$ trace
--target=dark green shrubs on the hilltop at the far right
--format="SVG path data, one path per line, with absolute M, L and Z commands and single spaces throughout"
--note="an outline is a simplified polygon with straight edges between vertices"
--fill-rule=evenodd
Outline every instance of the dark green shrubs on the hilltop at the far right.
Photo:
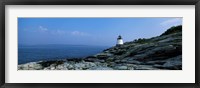
M 182 31 L 182 25 L 173 26 L 169 28 L 167 31 L 165 31 L 163 34 L 161 34 L 161 36 L 181 32 L 181 31 Z

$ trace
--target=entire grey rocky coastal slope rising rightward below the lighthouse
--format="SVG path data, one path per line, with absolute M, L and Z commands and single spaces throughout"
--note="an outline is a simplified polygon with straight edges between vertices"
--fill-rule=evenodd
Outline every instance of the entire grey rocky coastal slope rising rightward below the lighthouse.
M 39 61 L 18 70 L 182 70 L 182 26 L 160 36 L 140 38 L 85 58 Z

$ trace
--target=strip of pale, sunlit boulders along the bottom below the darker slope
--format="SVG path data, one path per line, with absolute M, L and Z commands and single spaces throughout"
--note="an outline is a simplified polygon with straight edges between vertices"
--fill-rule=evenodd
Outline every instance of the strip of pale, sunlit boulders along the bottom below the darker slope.
M 52 63 L 54 62 L 54 63 Z M 60 64 L 58 64 L 58 62 Z M 43 64 L 49 66 L 43 66 Z M 111 66 L 111 63 L 101 62 L 86 62 L 80 60 L 74 61 L 40 61 L 30 62 L 27 64 L 19 65 L 18 70 L 159 70 L 151 65 L 137 65 L 137 64 L 118 64 Z

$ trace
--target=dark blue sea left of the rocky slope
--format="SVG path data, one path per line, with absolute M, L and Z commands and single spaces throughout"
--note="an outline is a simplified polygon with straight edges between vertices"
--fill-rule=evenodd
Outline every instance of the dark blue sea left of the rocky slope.
M 89 45 L 19 45 L 18 64 L 35 61 L 82 58 L 102 52 L 108 46 Z

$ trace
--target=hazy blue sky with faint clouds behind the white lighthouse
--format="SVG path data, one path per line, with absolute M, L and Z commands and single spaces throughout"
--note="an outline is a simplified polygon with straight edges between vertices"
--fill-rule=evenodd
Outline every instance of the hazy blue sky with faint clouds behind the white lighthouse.
M 114 46 L 124 42 L 159 36 L 182 18 L 18 18 L 18 44 Z

